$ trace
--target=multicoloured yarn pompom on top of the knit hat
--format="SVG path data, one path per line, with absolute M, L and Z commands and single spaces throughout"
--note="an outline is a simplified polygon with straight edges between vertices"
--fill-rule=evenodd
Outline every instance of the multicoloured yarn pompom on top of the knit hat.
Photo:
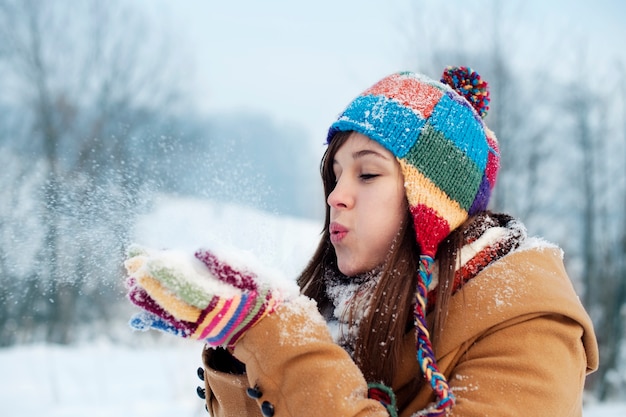
M 483 119 L 489 110 L 487 82 L 469 67 L 449 66 L 443 71 L 441 82 L 465 97 Z

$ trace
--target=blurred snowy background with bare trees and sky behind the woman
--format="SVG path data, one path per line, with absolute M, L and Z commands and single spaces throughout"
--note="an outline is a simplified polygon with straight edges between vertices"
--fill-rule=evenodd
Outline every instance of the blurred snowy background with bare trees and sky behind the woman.
M 295 277 L 326 128 L 397 70 L 492 87 L 494 209 L 559 243 L 601 345 L 585 416 L 626 415 L 619 0 L 0 0 L 2 415 L 200 416 L 201 346 L 133 333 L 131 242 L 230 245 Z

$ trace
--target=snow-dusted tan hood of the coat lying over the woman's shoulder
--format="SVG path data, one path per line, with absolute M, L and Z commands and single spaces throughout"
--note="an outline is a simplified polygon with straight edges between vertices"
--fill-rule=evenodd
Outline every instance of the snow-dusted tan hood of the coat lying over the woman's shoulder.
M 446 349 L 454 349 L 496 326 L 533 317 L 558 315 L 580 324 L 595 338 L 563 263 L 563 251 L 538 238 L 528 238 L 489 264 L 451 299 L 446 319 Z

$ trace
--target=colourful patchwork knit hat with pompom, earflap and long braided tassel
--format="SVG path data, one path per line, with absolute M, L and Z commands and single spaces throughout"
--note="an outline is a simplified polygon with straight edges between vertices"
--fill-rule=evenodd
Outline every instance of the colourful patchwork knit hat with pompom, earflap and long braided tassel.
M 355 131 L 380 143 L 400 162 L 419 244 L 415 303 L 417 360 L 437 395 L 428 415 L 454 404 L 439 372 L 426 324 L 428 287 L 437 247 L 469 216 L 487 208 L 500 155 L 483 123 L 487 83 L 467 67 L 448 67 L 441 82 L 401 72 L 383 78 L 354 99 L 328 131 Z

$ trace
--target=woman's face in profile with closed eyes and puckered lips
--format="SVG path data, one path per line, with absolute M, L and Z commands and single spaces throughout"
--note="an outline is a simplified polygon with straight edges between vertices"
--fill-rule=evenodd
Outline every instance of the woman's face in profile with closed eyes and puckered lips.
M 352 133 L 333 160 L 330 240 L 339 270 L 354 276 L 382 265 L 406 218 L 400 164 L 378 143 Z

